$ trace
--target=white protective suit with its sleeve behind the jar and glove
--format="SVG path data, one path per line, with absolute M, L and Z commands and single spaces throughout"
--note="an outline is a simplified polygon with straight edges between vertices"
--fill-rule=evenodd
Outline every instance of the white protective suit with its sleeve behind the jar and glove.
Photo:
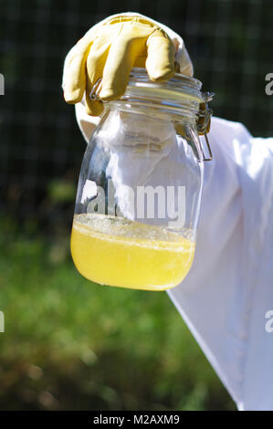
M 76 113 L 89 141 L 100 118 Z M 209 141 L 194 264 L 168 295 L 238 409 L 273 410 L 273 139 L 213 118 Z

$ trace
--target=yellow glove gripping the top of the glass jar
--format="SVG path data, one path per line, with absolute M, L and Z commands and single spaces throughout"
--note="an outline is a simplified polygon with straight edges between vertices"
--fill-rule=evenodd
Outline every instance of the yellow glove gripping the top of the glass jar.
M 140 16 L 118 16 L 89 29 L 68 52 L 63 75 L 64 97 L 78 103 L 86 92 L 86 110 L 98 116 L 102 102 L 89 99 L 99 78 L 100 99 L 123 95 L 131 68 L 146 67 L 152 81 L 172 78 L 175 48 L 162 28 Z

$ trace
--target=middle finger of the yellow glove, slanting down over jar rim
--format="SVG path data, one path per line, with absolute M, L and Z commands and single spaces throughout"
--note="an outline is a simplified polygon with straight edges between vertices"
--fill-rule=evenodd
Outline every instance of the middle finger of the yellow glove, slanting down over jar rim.
M 102 75 L 100 99 L 119 99 L 125 92 L 133 64 L 145 55 L 145 38 L 118 37 L 110 47 Z

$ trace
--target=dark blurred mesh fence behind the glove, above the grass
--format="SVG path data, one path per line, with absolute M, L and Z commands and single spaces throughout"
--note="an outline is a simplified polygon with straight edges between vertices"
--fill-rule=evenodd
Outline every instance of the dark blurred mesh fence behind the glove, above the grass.
M 215 115 L 244 122 L 255 136 L 273 136 L 273 96 L 265 93 L 273 72 L 267 0 L 0 0 L 2 214 L 50 218 L 58 185 L 59 213 L 66 204 L 71 212 L 85 143 L 62 99 L 63 60 L 90 26 L 127 10 L 184 37 L 195 76 L 215 91 Z

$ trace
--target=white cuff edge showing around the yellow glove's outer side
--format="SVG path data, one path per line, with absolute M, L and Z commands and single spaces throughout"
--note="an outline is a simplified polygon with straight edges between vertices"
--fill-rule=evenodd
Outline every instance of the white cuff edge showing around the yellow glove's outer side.
M 191 62 L 191 59 L 187 53 L 187 50 L 184 47 L 184 40 L 178 34 L 174 33 L 174 31 L 168 26 L 164 26 L 153 19 L 143 16 L 141 14 L 135 12 L 125 12 L 121 14 L 116 14 L 112 16 L 108 16 L 106 19 L 101 21 L 102 23 L 108 21 L 109 19 L 115 16 L 142 16 L 145 19 L 148 19 L 153 24 L 160 26 L 167 33 L 167 35 L 173 40 L 173 44 L 175 46 L 175 59 L 179 63 L 181 72 L 186 73 L 188 75 L 193 75 L 194 68 Z M 99 23 L 100 24 L 100 23 Z M 79 130 L 82 132 L 84 139 L 88 142 L 92 132 L 94 131 L 96 125 L 100 122 L 100 116 L 94 117 L 89 116 L 84 107 L 84 99 L 82 99 L 79 103 L 76 104 L 76 118 L 79 124 Z

